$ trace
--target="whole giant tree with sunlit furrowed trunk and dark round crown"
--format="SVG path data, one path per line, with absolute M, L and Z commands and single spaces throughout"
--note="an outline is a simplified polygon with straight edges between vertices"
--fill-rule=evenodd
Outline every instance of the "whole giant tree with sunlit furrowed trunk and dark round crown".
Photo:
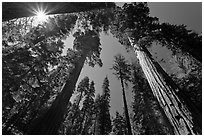
M 186 100 L 146 48 L 151 45 L 152 36 L 157 33 L 155 26 L 158 25 L 157 18 L 149 16 L 147 4 L 125 4 L 122 9 L 116 9 L 115 15 L 117 20 L 112 27 L 112 33 L 122 44 L 130 44 L 134 49 L 152 92 L 174 127 L 174 133 L 200 134 L 201 129 L 197 124 L 199 118 L 196 113 L 189 110 L 193 108 L 193 104 Z

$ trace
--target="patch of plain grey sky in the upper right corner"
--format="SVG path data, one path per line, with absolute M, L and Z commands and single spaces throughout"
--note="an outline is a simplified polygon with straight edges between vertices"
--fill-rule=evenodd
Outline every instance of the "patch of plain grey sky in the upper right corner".
M 185 24 L 188 29 L 201 33 L 201 2 L 149 2 L 148 5 L 150 15 L 158 17 L 161 22 Z

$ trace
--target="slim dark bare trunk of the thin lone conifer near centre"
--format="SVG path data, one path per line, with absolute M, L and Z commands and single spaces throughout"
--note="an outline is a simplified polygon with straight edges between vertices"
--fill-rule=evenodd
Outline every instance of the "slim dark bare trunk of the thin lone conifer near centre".
M 129 113 L 128 113 L 127 101 L 126 101 L 126 96 L 125 96 L 125 88 L 124 88 L 123 78 L 121 77 L 121 74 L 120 74 L 120 82 L 121 82 L 122 91 L 123 91 L 123 103 L 124 103 L 124 108 L 125 108 L 125 118 L 126 118 L 126 124 L 127 124 L 127 129 L 128 129 L 128 135 L 132 135 L 132 129 L 131 129 L 130 118 L 129 118 Z

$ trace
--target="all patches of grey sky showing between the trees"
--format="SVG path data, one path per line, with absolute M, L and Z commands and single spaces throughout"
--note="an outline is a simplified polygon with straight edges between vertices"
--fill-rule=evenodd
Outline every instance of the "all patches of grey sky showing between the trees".
M 122 5 L 122 3 L 117 3 Z M 197 33 L 202 32 L 202 3 L 180 3 L 180 2 L 151 2 L 148 3 L 150 7 L 150 15 L 156 16 L 161 22 L 169 22 L 171 24 L 185 24 L 188 29 L 194 30 Z M 71 47 L 73 42 L 73 37 L 66 40 L 65 45 Z M 127 53 L 125 48 L 118 42 L 116 38 L 113 38 L 111 34 L 105 35 L 101 34 L 101 59 L 103 62 L 103 67 L 95 66 L 94 68 L 84 65 L 78 83 L 85 76 L 88 76 L 90 80 L 95 82 L 96 94 L 102 93 L 102 84 L 104 78 L 107 76 L 110 81 L 110 92 L 111 92 L 111 115 L 115 115 L 115 111 L 122 112 L 123 110 L 123 100 L 122 100 L 122 89 L 120 81 L 113 75 L 113 70 L 110 70 L 113 64 L 113 57 L 121 53 L 125 58 L 131 61 L 135 58 L 133 52 Z M 169 60 L 171 57 L 171 52 L 166 48 L 161 46 L 154 46 L 150 49 L 151 53 L 157 60 L 164 59 L 160 62 L 164 67 L 164 70 L 171 71 L 172 61 Z M 128 100 L 128 105 L 131 105 L 131 86 L 126 89 L 126 96 Z

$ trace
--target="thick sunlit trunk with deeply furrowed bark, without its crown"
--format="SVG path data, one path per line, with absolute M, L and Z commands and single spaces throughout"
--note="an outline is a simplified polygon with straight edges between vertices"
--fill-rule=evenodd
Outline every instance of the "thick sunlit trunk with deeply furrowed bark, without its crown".
M 169 76 L 166 73 L 163 74 L 165 71 L 158 67 L 159 64 L 155 64 L 145 47 L 138 47 L 131 39 L 129 40 L 135 48 L 135 53 L 154 96 L 156 96 L 171 125 L 174 127 L 174 133 L 179 135 L 201 134 L 201 130 L 193 120 L 193 114 L 186 107 L 181 96 L 176 95 L 179 89 L 172 85 L 173 81 L 167 81 L 167 79 L 170 79 Z

